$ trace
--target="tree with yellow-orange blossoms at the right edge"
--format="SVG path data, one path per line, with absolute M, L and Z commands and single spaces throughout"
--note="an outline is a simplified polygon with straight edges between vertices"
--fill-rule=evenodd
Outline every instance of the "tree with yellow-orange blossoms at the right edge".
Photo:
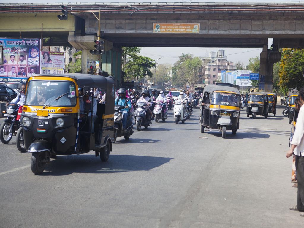
M 300 90 L 304 85 L 304 50 L 283 48 L 279 70 L 281 91 Z

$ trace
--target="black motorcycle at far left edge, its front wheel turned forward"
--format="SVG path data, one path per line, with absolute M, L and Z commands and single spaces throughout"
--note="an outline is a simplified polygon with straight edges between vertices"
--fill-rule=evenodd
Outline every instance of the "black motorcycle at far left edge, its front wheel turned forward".
M 17 104 L 9 104 L 6 111 L 3 111 L 4 116 L 7 116 L 0 128 L 0 140 L 7 144 L 11 141 L 12 136 L 17 134 L 20 126 L 20 117 L 22 113 L 22 106 L 18 108 Z M 21 131 L 22 132 L 22 131 Z

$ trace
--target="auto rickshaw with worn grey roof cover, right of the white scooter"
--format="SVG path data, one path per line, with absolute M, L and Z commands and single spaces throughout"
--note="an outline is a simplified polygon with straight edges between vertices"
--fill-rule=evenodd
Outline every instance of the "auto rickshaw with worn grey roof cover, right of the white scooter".
M 200 113 L 201 132 L 206 127 L 222 131 L 222 138 L 226 137 L 226 130 L 237 133 L 240 127 L 240 91 L 237 88 L 206 85 L 202 96 Z

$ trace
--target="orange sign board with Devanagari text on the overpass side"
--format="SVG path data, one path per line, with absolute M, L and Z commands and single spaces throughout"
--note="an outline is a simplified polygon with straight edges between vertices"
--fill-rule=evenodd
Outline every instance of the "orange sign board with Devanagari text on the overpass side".
M 153 33 L 199 33 L 199 23 L 153 23 Z

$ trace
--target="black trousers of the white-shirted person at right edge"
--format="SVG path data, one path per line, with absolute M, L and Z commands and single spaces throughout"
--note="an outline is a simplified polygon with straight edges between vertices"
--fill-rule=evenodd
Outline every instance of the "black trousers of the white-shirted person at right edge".
M 298 180 L 298 199 L 297 208 L 299 211 L 304 212 L 304 157 L 295 156 L 295 167 Z

